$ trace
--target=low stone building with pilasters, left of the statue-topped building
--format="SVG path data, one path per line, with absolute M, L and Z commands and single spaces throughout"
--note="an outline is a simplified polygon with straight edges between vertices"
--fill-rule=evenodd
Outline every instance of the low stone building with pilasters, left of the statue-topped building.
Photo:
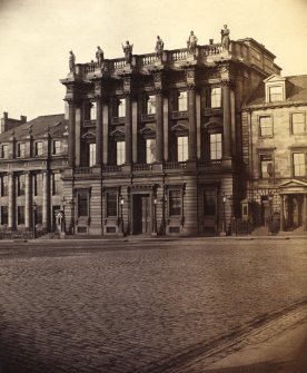
M 67 168 L 68 122 L 65 115 L 27 122 L 4 112 L 0 134 L 1 232 L 55 230 L 62 208 L 61 173 Z

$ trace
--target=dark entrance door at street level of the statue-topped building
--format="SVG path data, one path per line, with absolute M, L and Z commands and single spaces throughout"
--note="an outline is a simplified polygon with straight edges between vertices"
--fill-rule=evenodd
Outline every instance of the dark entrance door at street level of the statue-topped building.
M 133 234 L 151 233 L 150 195 L 140 194 L 133 196 Z

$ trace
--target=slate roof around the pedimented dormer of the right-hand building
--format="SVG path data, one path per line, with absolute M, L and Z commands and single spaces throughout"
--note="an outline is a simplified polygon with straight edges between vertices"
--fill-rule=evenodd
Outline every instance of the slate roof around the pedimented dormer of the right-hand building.
M 286 77 L 286 102 L 307 101 L 307 75 Z M 247 105 L 261 105 L 266 102 L 265 84 L 261 81 L 254 91 Z

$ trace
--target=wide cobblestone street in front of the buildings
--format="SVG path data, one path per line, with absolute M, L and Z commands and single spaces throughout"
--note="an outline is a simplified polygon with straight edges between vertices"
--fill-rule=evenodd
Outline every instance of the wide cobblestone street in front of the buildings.
M 306 243 L 1 244 L 0 372 L 184 372 L 306 306 Z

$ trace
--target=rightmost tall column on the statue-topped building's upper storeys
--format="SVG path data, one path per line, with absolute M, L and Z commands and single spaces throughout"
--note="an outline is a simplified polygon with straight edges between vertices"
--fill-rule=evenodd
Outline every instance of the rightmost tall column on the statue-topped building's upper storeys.
M 222 157 L 231 158 L 231 112 L 230 112 L 230 87 L 229 81 L 224 81 L 222 85 Z

